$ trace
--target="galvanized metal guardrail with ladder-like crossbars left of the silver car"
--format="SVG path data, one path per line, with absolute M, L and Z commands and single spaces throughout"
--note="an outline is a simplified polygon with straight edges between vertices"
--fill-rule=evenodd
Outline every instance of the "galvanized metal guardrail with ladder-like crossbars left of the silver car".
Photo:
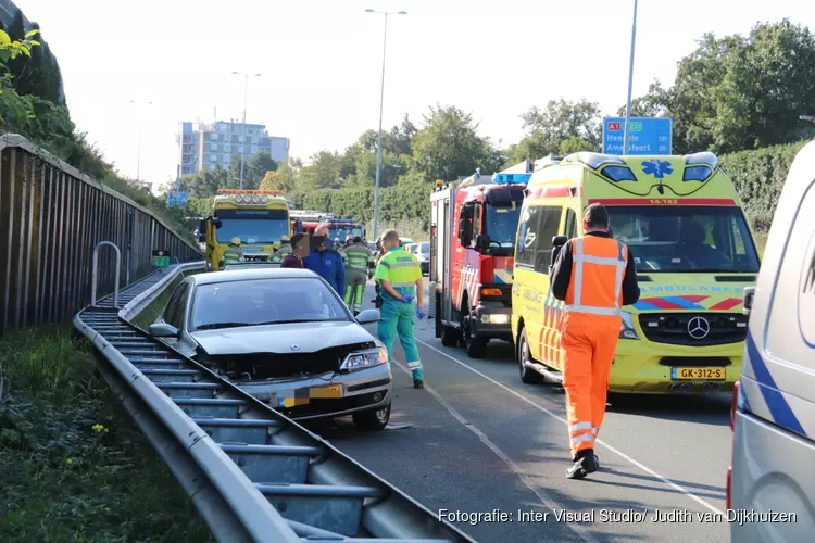
M 220 542 L 474 542 L 327 441 L 128 323 L 175 265 L 87 307 L 74 326 Z

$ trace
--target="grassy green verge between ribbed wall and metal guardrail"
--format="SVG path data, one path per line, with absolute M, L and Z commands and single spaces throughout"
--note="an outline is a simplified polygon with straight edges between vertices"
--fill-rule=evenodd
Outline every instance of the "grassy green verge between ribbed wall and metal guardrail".
M 2 338 L 0 541 L 214 541 L 95 368 L 71 326 Z

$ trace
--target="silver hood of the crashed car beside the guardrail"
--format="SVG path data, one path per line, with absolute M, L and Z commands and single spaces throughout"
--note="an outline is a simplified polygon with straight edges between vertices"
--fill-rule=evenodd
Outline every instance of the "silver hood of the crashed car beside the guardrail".
M 374 341 L 356 323 L 292 323 L 248 326 L 192 332 L 192 338 L 210 355 L 251 353 L 313 353 L 331 346 Z M 292 349 L 297 345 L 299 349 Z

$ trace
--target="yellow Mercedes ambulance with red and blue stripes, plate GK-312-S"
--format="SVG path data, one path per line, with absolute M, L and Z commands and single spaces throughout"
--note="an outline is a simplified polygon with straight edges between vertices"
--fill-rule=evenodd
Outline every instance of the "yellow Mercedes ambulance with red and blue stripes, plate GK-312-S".
M 582 211 L 606 206 L 636 257 L 640 300 L 625 306 L 611 392 L 732 390 L 747 338 L 744 288 L 758 254 L 730 180 L 712 153 L 575 153 L 532 174 L 521 211 L 512 332 L 521 378 L 561 380 L 563 302 L 550 290 L 553 248 L 581 236 Z

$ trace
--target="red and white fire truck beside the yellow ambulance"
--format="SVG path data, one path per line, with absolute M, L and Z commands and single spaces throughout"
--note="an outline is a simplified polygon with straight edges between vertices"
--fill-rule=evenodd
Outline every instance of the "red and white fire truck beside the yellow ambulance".
M 444 346 L 482 358 L 491 339 L 512 341 L 512 268 L 528 161 L 430 194 L 429 316 Z

